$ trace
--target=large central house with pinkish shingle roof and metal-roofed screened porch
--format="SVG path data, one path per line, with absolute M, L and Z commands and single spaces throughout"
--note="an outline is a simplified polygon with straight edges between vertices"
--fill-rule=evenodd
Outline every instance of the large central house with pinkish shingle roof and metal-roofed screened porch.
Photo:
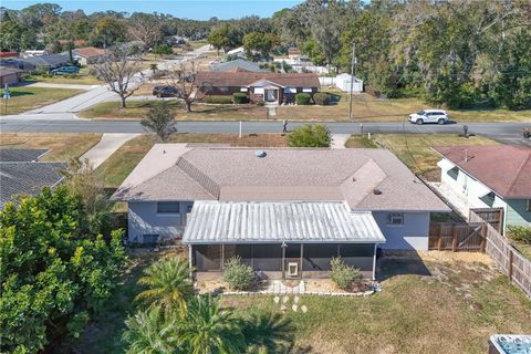
M 270 278 L 327 277 L 337 256 L 374 278 L 377 248 L 427 250 L 450 211 L 385 149 L 157 144 L 113 199 L 129 242 L 181 238 L 198 272 L 240 256 Z

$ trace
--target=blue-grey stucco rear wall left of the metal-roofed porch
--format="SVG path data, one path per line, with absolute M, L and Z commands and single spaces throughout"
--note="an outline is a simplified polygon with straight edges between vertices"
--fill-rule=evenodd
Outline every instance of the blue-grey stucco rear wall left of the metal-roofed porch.
M 159 240 L 181 236 L 186 214 L 192 201 L 180 201 L 179 214 L 158 214 L 156 201 L 128 202 L 127 226 L 129 242 L 144 242 L 144 235 L 158 235 Z

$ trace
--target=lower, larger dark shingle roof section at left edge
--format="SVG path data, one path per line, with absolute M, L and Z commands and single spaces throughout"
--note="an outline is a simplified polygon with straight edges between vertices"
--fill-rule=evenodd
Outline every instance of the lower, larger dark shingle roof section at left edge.
M 53 187 L 63 176 L 64 163 L 1 163 L 0 208 L 17 195 L 38 195 L 44 187 Z

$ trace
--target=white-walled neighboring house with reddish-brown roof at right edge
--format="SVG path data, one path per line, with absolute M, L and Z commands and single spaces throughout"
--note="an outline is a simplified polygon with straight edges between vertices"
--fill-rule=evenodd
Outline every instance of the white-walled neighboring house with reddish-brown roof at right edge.
M 503 228 L 531 226 L 531 148 L 439 146 L 441 183 L 471 208 L 503 208 Z

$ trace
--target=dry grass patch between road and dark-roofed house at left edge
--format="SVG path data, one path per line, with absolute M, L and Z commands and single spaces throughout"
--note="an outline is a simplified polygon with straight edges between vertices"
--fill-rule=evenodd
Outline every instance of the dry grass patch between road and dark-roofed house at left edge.
M 9 148 L 48 148 L 43 160 L 67 160 L 80 157 L 100 142 L 93 133 L 2 133 L 0 146 Z

